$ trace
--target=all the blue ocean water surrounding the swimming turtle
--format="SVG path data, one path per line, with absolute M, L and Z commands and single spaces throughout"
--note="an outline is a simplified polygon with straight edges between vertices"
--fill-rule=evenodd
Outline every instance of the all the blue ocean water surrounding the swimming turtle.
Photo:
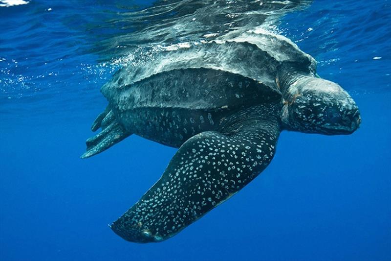
M 223 1 L 199 28 L 175 27 L 217 1 L 167 2 L 153 15 L 152 0 L 0 1 L 0 260 L 391 260 L 389 0 L 314 0 L 273 27 L 355 99 L 359 130 L 282 132 L 259 177 L 167 241 L 109 229 L 176 149 L 133 135 L 81 160 L 107 104 L 99 88 L 140 47 L 193 41 L 227 22 L 207 17 L 244 12 Z

